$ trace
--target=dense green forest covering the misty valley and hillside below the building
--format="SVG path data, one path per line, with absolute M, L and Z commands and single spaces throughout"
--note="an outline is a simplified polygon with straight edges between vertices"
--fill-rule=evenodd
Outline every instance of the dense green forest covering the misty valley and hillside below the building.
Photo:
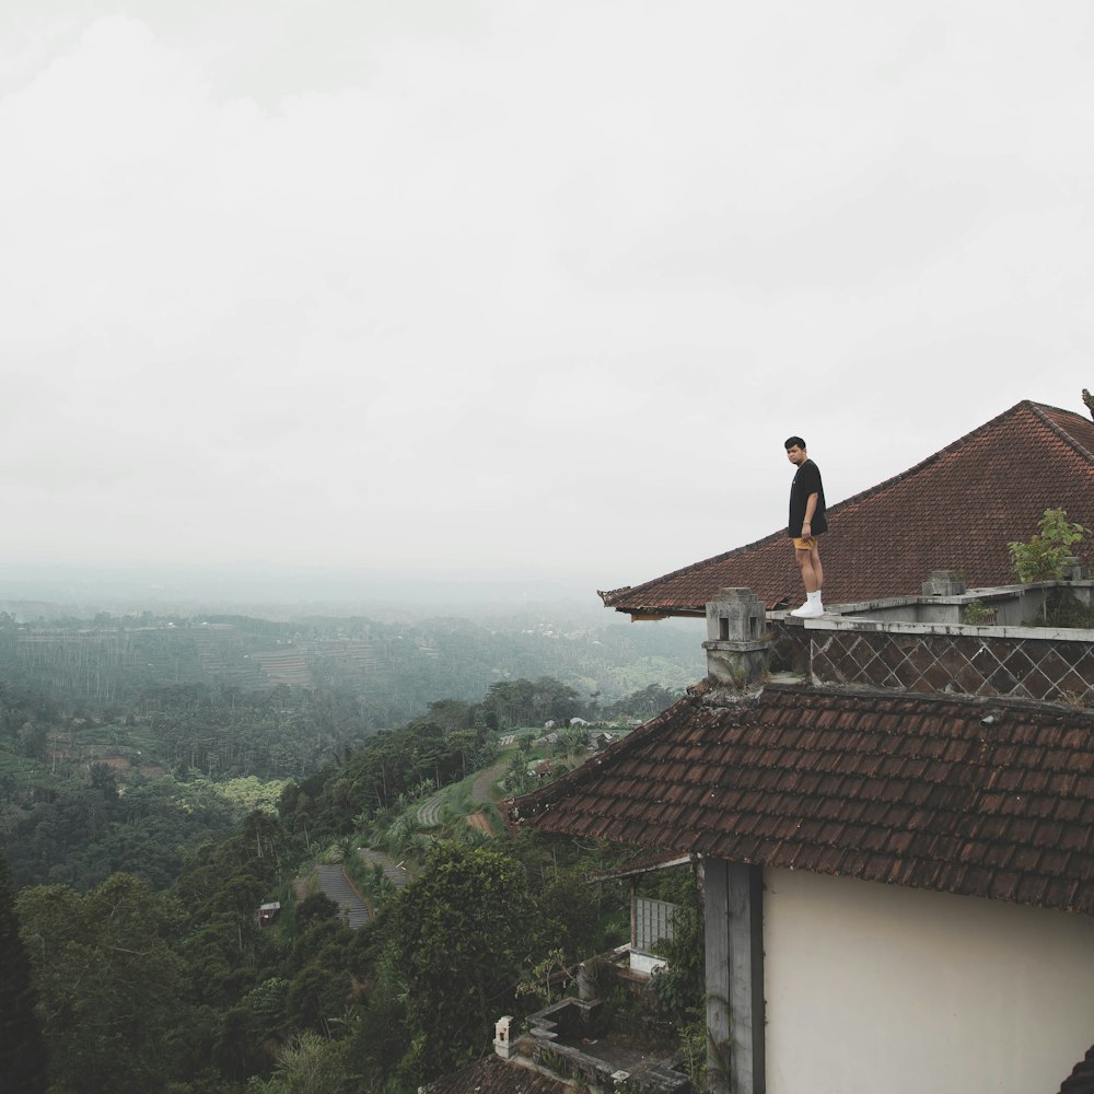
M 20 650 L 42 637 L 34 628 L 3 628 L 0 1089 L 403 1094 L 477 1058 L 498 1016 L 538 1009 L 552 973 L 565 979 L 626 936 L 624 886 L 584 878 L 635 852 L 514 834 L 491 803 L 542 779 L 537 763 L 556 777 L 597 747 L 597 731 L 625 733 L 679 694 L 672 672 L 649 678 L 663 654 L 631 647 L 628 665 L 621 648 L 645 628 L 606 628 L 624 631 L 607 642 L 524 636 L 528 657 L 558 651 L 575 685 L 511 675 L 520 640 L 499 668 L 477 628 L 457 652 L 455 624 L 422 647 L 420 631 L 365 639 L 345 620 L 340 638 L 316 621 L 291 633 L 138 621 L 54 621 L 33 652 Z M 209 627 L 224 660 L 207 645 L 199 672 L 185 659 Z M 433 691 L 414 717 L 380 724 L 380 709 L 428 691 L 375 690 L 370 706 L 373 667 L 344 671 L 323 645 L 364 641 L 386 651 L 396 688 L 412 664 L 439 661 L 488 666 L 485 686 Z M 258 647 L 278 642 L 298 651 L 305 680 L 209 668 L 229 653 L 261 664 Z M 138 664 L 153 648 L 161 660 Z M 610 661 L 640 686 L 602 690 Z M 473 784 L 489 785 L 489 801 L 473 800 Z M 377 864 L 396 860 L 404 886 Z M 322 863 L 363 895 L 363 927 L 317 885 Z M 651 884 L 690 909 L 686 871 Z M 258 916 L 264 903 L 280 906 L 275 921 Z M 695 931 L 678 939 L 657 998 L 686 1037 L 700 955 Z

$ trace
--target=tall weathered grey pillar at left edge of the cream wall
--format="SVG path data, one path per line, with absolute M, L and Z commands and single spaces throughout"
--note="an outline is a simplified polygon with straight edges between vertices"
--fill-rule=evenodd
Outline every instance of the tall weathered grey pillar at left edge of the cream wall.
M 703 859 L 702 891 L 707 1086 L 765 1094 L 763 869 Z

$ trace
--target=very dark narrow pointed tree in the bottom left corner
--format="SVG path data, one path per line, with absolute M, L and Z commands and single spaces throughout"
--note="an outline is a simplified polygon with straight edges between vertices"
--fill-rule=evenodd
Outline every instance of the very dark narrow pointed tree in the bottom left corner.
M 35 1002 L 8 860 L 0 851 L 0 1090 L 40 1094 L 46 1089 L 46 1051 Z

